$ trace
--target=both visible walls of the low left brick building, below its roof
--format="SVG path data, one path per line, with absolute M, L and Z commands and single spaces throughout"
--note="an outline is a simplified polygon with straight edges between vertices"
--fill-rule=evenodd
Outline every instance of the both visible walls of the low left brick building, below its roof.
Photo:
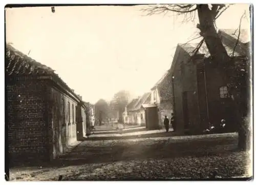
M 9 77 L 6 90 L 11 162 L 49 161 L 85 137 L 86 115 L 80 100 L 47 77 Z

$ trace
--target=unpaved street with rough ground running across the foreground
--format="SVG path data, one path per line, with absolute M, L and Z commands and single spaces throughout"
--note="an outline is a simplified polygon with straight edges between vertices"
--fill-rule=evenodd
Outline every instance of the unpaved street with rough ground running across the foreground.
M 122 139 L 113 133 L 108 140 L 92 137 L 51 166 L 11 169 L 10 178 L 57 180 L 63 175 L 62 180 L 129 180 L 209 178 L 213 171 L 218 177 L 246 173 L 247 154 L 234 151 L 237 134 L 162 137 L 162 133 L 154 138 Z

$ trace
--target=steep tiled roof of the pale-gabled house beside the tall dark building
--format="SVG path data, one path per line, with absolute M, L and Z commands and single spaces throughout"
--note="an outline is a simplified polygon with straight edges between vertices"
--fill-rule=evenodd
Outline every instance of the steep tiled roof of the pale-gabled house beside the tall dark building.
M 168 70 L 167 74 L 164 75 L 162 81 L 157 85 L 160 101 L 171 101 L 172 100 L 172 74 Z

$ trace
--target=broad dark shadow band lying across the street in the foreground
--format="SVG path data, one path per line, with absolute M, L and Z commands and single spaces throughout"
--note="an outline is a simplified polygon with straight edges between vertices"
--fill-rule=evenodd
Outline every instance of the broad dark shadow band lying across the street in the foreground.
M 224 141 L 225 140 L 225 141 Z M 201 157 L 210 155 L 228 155 L 237 148 L 237 141 L 231 139 L 217 139 L 215 141 L 192 141 L 183 143 L 169 143 L 161 141 L 154 145 L 141 146 L 138 144 L 100 147 L 78 146 L 73 152 L 59 159 L 58 165 L 82 165 L 90 163 L 111 163 L 118 161 L 173 158 L 173 157 Z M 86 149 L 85 149 L 86 148 Z

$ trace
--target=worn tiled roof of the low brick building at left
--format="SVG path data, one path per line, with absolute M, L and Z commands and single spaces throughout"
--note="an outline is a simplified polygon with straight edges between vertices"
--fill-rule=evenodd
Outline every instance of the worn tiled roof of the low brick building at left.
M 34 59 L 23 54 L 15 49 L 10 44 L 6 44 L 6 59 L 5 59 L 5 74 L 6 76 L 19 75 L 52 75 L 54 80 L 60 83 L 65 89 L 73 94 L 81 102 L 81 98 L 72 90 L 50 67 L 36 62 Z

